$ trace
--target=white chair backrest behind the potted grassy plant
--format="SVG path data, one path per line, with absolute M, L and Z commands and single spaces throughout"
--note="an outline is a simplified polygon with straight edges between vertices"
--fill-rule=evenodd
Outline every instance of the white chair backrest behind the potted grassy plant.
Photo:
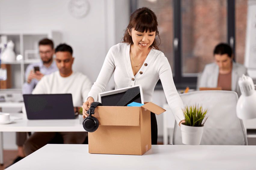
M 206 90 L 180 94 L 184 106 L 202 105 L 208 119 L 200 145 L 248 145 L 242 120 L 236 116 L 238 95 L 233 91 Z M 173 144 L 182 144 L 180 126 L 175 122 Z

